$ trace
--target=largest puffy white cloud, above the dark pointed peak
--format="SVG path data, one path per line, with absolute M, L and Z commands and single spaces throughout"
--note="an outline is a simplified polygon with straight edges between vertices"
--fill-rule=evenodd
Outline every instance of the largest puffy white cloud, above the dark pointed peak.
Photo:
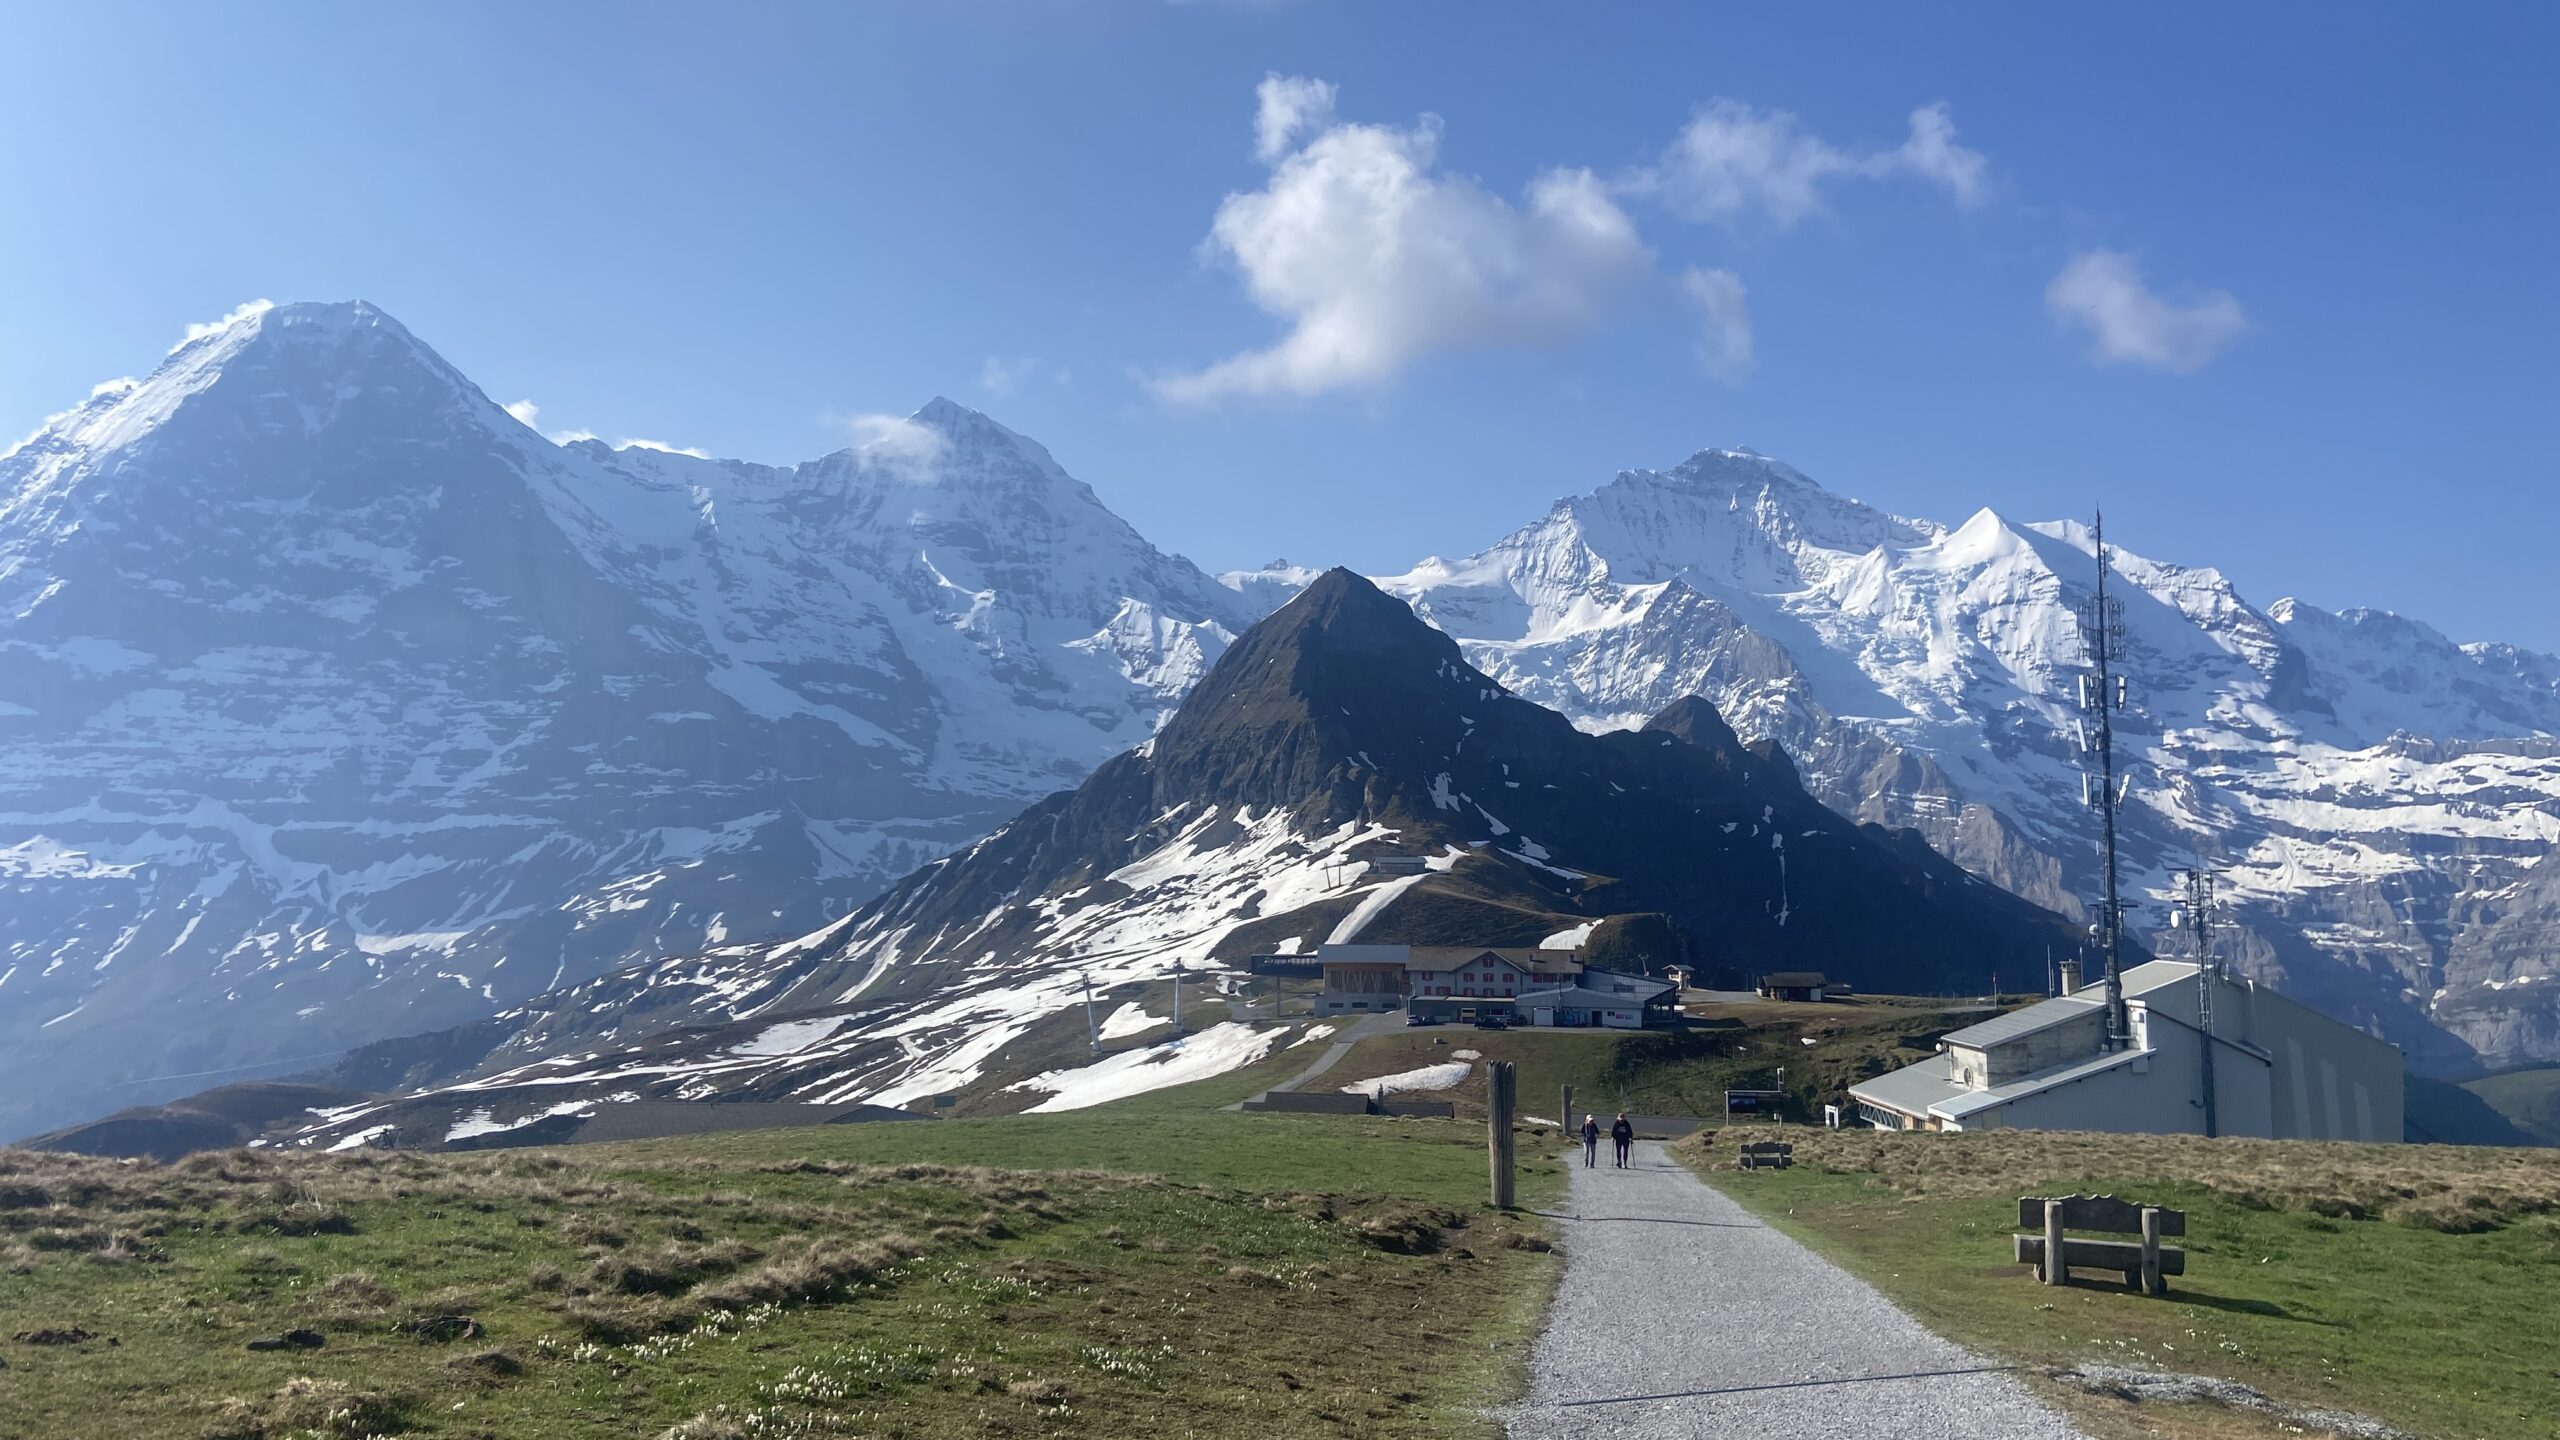
M 1651 269 L 1633 220 L 1587 169 L 1539 174 L 1513 208 L 1439 169 L 1436 115 L 1303 136 L 1329 113 L 1329 85 L 1265 79 L 1254 138 L 1270 182 L 1229 195 L 1208 233 L 1208 251 L 1288 333 L 1157 379 L 1157 395 L 1321 395 L 1382 382 L 1434 351 L 1556 343 Z

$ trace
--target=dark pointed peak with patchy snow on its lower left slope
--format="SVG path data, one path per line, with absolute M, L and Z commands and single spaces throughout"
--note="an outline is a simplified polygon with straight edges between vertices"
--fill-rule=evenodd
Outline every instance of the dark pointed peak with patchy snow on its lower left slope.
M 1656 969 L 1820 966 L 1894 992 L 2028 976 L 2074 933 L 1825 810 L 1700 700 L 1644 730 L 1580 733 L 1329 571 L 1247 630 L 1147 746 L 837 925 L 379 1045 L 330 1079 L 417 1094 L 297 1140 L 397 1130 L 433 1145 L 614 1099 L 911 1104 L 1004 1081 L 1042 1025 L 1080 1040 L 1085 981 L 1116 992 L 1175 966 L 1231 979 L 1252 953 L 1326 940 L 1605 948 L 1613 925 L 1695 943 L 1651 953 Z M 1231 1063 L 1262 1053 L 1229 1040 Z

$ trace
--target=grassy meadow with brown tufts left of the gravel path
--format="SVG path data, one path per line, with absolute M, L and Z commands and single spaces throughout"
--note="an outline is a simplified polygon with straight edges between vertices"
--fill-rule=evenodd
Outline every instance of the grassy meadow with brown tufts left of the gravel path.
M 1482 1207 L 1482 1127 L 1213 1109 L 1252 1081 L 486 1156 L 0 1150 L 0 1335 L 33 1338 L 0 1435 L 1482 1432 L 1554 1266 Z M 323 1345 L 248 1348 L 292 1330 Z

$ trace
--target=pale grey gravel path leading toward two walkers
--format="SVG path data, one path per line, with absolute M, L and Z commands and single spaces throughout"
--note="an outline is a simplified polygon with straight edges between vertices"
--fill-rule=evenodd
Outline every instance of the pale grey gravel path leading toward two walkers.
M 1574 1153 L 1564 1286 L 1513 1440 L 2084 1440 L 1981 1355 L 1702 1184 L 1651 1140 Z

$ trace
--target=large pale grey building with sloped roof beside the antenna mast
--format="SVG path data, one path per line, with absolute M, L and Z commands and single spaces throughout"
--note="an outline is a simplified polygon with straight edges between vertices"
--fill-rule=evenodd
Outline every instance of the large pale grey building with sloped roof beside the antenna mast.
M 2089 984 L 1966 1025 L 1928 1061 L 1853 1084 L 1848 1097 L 1876 1130 L 2401 1140 L 2399 1045 L 2230 976 L 2212 979 L 2207 1035 L 2202 999 L 2194 963 L 2150 961 L 2125 971 L 2122 1051 L 2107 1051 L 2104 992 Z

